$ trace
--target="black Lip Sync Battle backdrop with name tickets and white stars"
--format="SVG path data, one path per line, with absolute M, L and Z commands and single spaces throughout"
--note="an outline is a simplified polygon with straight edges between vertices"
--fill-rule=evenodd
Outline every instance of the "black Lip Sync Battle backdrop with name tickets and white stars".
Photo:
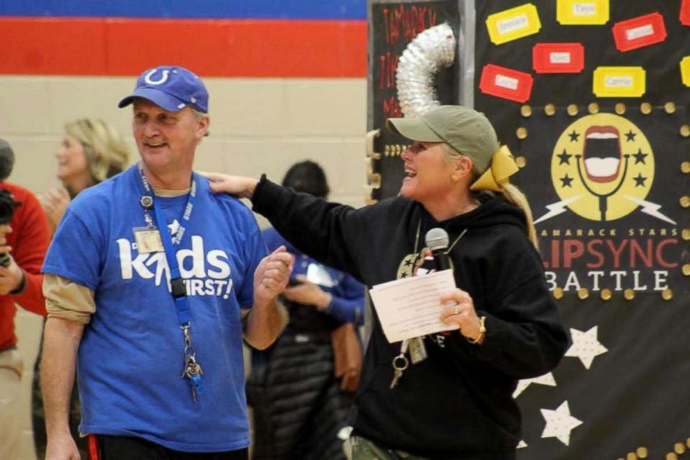
M 689 3 L 533 0 L 538 31 L 497 45 L 486 20 L 522 4 L 476 1 L 474 107 L 522 166 L 515 182 L 572 340 L 556 370 L 515 391 L 520 459 L 690 459 Z M 589 6 L 609 6 L 608 20 L 558 20 Z M 510 31 L 529 15 L 491 17 Z M 549 44 L 581 45 L 584 66 L 537 72 L 533 48 Z M 527 100 L 486 93 L 486 66 L 531 76 Z M 605 74 L 620 67 L 629 74 Z

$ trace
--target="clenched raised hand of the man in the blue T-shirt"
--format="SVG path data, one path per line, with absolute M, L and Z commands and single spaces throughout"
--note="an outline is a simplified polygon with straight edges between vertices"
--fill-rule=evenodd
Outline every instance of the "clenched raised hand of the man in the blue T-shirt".
M 294 257 L 280 246 L 264 257 L 254 272 L 254 305 L 267 306 L 287 287 Z

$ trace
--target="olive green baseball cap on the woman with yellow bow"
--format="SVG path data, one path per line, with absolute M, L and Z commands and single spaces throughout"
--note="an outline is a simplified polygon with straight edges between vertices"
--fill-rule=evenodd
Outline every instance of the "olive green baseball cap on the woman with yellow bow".
M 491 159 L 499 148 L 491 122 L 470 107 L 443 105 L 419 118 L 389 118 L 387 125 L 411 141 L 447 143 L 470 157 L 480 174 L 491 166 Z

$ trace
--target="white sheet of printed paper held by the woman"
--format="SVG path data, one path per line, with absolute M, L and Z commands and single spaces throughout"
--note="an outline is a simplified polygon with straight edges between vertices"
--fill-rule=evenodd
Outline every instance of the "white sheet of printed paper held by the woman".
M 441 322 L 440 297 L 456 288 L 453 271 L 436 271 L 371 288 L 371 300 L 388 342 L 457 329 Z

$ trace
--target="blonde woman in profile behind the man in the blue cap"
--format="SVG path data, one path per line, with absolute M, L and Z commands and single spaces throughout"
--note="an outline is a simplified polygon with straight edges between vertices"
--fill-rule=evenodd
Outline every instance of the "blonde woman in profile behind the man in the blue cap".
M 61 188 L 50 189 L 40 197 L 50 223 L 51 232 L 65 214 L 72 198 L 81 191 L 121 173 L 129 164 L 127 144 L 113 127 L 103 120 L 81 118 L 65 124 L 65 134 L 55 154 Z M 31 392 L 33 441 L 36 455 L 45 458 L 47 437 L 43 397 L 40 390 L 40 360 L 42 347 L 36 357 Z M 70 403 L 70 431 L 77 439 L 79 452 L 86 458 L 86 439 L 79 438 L 79 390 L 75 385 Z

